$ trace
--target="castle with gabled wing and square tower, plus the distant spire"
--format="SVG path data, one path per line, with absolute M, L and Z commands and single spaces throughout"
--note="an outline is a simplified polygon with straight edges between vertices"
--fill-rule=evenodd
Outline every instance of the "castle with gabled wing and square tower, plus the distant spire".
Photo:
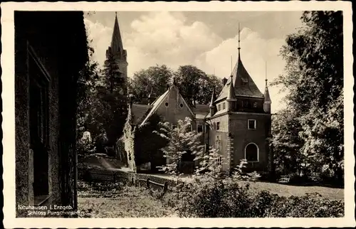
M 117 45 L 113 45 L 115 43 Z M 122 49 L 117 18 L 112 35 L 111 51 L 113 50 L 117 53 L 119 63 L 126 68 L 126 52 Z M 268 137 L 271 135 L 271 98 L 267 80 L 263 94 L 242 63 L 240 38 L 238 52 L 234 70 L 228 79 L 222 80 L 224 87 L 221 92 L 216 95 L 215 90 L 213 91 L 209 105 L 187 102 L 179 93 L 179 87 L 174 80 L 162 95 L 155 97 L 150 93 L 147 104 L 130 102 L 130 118 L 127 118 L 126 123 L 130 133 L 123 134 L 117 148 L 124 152 L 131 169 L 137 171 L 140 167 L 132 155 L 145 154 L 145 151 L 135 149 L 133 129 L 142 127 L 156 114 L 173 126 L 177 125 L 179 119 L 192 119 L 192 129 L 202 134 L 201 144 L 219 149 L 221 157 L 216 159 L 216 163 L 222 164 L 224 171 L 231 173 L 234 167 L 240 164 L 241 159 L 248 161 L 246 169 L 268 171 L 272 156 L 268 144 Z M 191 156 L 186 156 L 182 161 L 190 162 L 194 168 Z M 154 162 L 150 161 L 151 164 L 155 164 Z

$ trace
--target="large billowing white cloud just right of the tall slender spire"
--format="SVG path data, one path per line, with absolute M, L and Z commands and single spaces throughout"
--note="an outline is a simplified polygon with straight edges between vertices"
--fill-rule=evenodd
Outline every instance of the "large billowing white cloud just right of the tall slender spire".
M 153 60 L 153 65 L 166 64 L 171 68 L 192 64 L 202 52 L 221 43 L 222 39 L 201 21 L 191 24 L 185 21 L 183 14 L 167 11 L 151 12 L 132 21 L 132 32 L 124 38 L 132 65 L 130 72 L 149 67 Z M 137 65 L 137 53 L 131 54 L 131 49 L 139 50 L 146 60 L 138 60 Z

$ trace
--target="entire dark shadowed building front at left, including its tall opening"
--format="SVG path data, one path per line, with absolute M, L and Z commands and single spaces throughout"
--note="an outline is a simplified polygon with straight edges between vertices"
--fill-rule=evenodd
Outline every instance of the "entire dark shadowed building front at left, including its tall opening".
M 88 59 L 83 12 L 16 11 L 14 20 L 16 206 L 76 208 L 75 79 Z

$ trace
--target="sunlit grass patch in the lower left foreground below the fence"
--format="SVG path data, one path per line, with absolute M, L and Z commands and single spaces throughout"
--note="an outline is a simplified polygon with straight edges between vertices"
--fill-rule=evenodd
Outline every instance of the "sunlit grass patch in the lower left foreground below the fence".
M 78 210 L 86 218 L 177 217 L 144 189 L 124 186 L 110 191 L 78 192 Z

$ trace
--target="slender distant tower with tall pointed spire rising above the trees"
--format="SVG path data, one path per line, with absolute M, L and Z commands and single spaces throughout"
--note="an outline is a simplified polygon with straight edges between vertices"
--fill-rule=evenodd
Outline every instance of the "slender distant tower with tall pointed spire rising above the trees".
M 122 46 L 117 13 L 115 13 L 115 23 L 112 31 L 112 38 L 108 50 L 106 50 L 105 65 L 112 65 L 115 69 L 115 77 L 122 78 L 123 94 L 127 95 L 127 52 Z

